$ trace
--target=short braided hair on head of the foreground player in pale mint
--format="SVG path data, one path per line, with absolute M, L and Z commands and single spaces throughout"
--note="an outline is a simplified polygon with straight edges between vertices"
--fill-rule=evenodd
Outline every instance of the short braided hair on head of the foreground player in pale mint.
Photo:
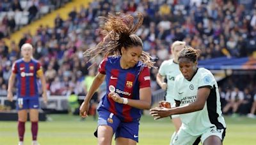
M 192 62 L 196 62 L 198 60 L 198 57 L 200 56 L 199 51 L 200 50 L 196 50 L 191 46 L 184 46 L 184 48 L 182 48 L 179 53 L 178 60 L 182 58 L 187 58 Z

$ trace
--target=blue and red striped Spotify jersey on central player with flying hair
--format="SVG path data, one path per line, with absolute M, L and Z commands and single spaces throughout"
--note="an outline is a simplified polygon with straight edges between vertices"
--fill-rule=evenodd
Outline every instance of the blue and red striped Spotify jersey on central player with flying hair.
M 140 88 L 150 87 L 150 71 L 145 64 L 138 62 L 136 66 L 122 69 L 120 57 L 108 57 L 100 63 L 99 72 L 106 74 L 106 95 L 100 101 L 99 110 L 107 109 L 125 122 L 138 121 L 141 109 L 126 104 L 119 104 L 108 97 L 109 92 L 116 92 L 120 97 L 140 99 Z

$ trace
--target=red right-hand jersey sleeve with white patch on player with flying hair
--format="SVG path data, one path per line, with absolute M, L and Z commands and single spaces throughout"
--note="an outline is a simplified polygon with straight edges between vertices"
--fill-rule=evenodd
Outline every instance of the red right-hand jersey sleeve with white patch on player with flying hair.
M 139 74 L 138 81 L 140 83 L 140 88 L 150 87 L 150 71 L 148 67 L 143 67 Z

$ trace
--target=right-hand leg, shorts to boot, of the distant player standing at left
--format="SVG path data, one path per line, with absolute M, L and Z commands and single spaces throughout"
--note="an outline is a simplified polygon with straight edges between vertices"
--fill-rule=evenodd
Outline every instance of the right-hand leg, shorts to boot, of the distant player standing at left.
M 29 99 L 29 119 L 31 121 L 31 134 L 32 134 L 32 144 L 37 145 L 37 134 L 38 134 L 38 99 Z

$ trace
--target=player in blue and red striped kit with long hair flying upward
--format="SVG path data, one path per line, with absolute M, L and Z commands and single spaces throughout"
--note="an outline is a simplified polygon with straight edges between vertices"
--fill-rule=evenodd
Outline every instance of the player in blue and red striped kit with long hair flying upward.
M 98 144 L 111 144 L 113 134 L 116 144 L 138 142 L 141 109 L 149 109 L 151 104 L 149 67 L 154 66 L 148 53 L 143 52 L 141 39 L 133 34 L 142 22 L 141 13 L 135 24 L 131 15 L 109 15 L 102 29 L 104 40 L 85 52 L 93 57 L 106 52 L 80 107 L 80 115 L 86 117 L 93 93 L 106 80 L 106 95 L 97 109 Z

